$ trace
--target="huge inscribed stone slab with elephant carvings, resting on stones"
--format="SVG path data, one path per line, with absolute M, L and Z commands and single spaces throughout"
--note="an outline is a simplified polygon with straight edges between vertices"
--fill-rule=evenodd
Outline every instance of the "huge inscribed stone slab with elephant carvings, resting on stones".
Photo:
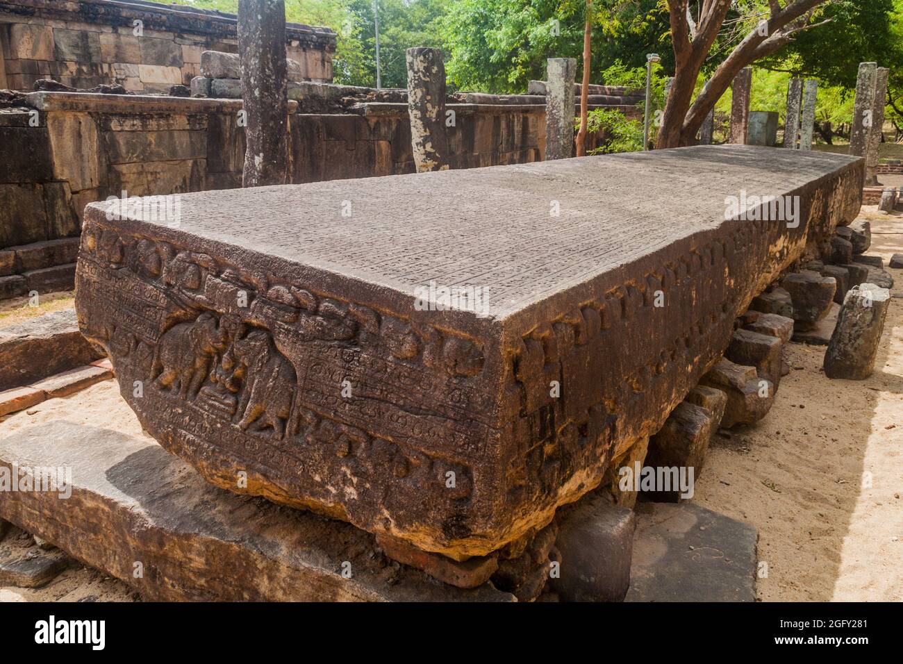
M 705 145 L 94 203 L 79 325 L 209 482 L 486 555 L 656 433 L 862 167 Z M 799 223 L 725 220 L 744 195 Z

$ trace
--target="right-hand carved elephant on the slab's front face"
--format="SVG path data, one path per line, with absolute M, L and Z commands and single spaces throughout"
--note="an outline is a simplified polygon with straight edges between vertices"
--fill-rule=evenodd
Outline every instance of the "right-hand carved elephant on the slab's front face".
M 245 388 L 238 402 L 242 414 L 238 426 L 244 431 L 263 418 L 262 426 L 272 426 L 276 438 L 285 435 L 285 422 L 292 412 L 294 368 L 275 349 L 266 332 L 256 330 L 236 339 L 232 351 L 244 368 Z

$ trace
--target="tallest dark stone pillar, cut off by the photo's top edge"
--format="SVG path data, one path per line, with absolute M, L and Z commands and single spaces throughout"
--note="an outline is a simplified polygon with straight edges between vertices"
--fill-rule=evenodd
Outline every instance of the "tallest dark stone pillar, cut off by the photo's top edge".
M 284 184 L 288 175 L 284 0 L 238 0 L 238 55 L 247 123 L 242 186 Z

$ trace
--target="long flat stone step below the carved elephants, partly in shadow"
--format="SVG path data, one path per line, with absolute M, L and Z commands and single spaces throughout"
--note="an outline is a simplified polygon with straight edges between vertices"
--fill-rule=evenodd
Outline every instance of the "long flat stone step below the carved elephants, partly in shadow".
M 217 489 L 146 436 L 67 421 L 26 426 L 0 439 L 0 468 L 14 464 L 23 474 L 65 464 L 71 495 L 5 493 L 0 516 L 148 600 L 513 599 L 489 584 L 463 590 L 387 564 L 373 536 L 350 524 Z

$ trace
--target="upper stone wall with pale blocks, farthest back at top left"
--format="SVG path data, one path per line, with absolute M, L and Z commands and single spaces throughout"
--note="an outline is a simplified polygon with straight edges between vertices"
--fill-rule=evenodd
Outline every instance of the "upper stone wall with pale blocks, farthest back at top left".
M 303 79 L 332 80 L 334 33 L 288 23 L 286 37 Z M 55 79 L 79 89 L 119 83 L 167 92 L 200 75 L 200 53 L 209 50 L 237 52 L 234 16 L 145 2 L 0 0 L 0 89 Z

